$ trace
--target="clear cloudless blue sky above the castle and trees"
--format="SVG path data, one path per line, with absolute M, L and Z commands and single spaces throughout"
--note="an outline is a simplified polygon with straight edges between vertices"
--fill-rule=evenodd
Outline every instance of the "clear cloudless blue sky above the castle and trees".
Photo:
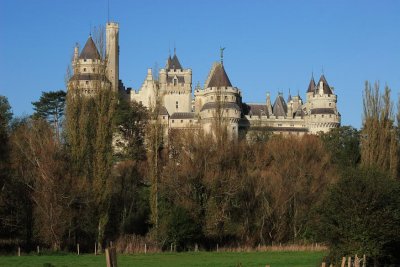
M 400 1 L 110 0 L 120 24 L 120 78 L 138 89 L 146 69 L 177 48 L 193 84 L 204 84 L 219 47 L 246 102 L 305 91 L 323 69 L 342 124 L 359 128 L 364 81 L 400 89 Z M 0 94 L 31 114 L 42 91 L 64 89 L 73 46 L 107 21 L 107 0 L 0 0 Z

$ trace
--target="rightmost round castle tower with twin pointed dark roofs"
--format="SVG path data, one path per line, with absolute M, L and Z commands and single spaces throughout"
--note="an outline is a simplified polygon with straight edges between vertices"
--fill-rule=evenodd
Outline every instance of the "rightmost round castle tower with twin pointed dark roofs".
M 333 92 L 325 76 L 321 75 L 317 84 L 312 78 L 307 90 L 306 123 L 309 132 L 328 132 L 340 126 L 340 113 L 337 110 L 337 95 Z

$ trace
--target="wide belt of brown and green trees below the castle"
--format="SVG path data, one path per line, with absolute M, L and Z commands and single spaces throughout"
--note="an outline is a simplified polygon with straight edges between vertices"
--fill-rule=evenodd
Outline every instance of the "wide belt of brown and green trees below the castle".
M 361 131 L 251 142 L 223 124 L 219 136 L 166 140 L 157 108 L 108 90 L 43 93 L 22 119 L 0 100 L 3 250 L 89 252 L 135 235 L 181 251 L 324 242 L 331 261 L 399 261 L 400 115 L 388 87 L 366 84 Z

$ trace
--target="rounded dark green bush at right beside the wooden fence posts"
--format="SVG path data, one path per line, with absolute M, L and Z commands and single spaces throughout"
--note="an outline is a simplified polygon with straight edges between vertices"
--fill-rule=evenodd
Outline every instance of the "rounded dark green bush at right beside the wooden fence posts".
M 343 173 L 314 215 L 333 261 L 365 254 L 374 266 L 400 262 L 400 184 L 387 174 L 371 168 Z

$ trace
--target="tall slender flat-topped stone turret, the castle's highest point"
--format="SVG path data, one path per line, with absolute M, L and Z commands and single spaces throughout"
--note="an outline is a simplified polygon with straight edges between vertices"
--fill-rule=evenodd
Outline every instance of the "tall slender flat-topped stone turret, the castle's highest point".
M 106 59 L 107 77 L 112 84 L 112 90 L 119 89 L 119 26 L 115 22 L 106 25 Z

